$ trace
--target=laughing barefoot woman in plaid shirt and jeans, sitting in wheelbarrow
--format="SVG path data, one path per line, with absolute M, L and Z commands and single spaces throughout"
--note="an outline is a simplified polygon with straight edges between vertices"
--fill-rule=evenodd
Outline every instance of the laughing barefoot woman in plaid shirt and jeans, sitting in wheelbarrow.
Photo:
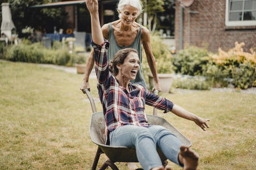
M 203 130 L 209 128 L 209 120 L 152 94 L 140 84 L 131 83 L 130 80 L 135 79 L 140 69 L 137 50 L 121 49 L 113 62 L 108 64 L 109 43 L 103 39 L 100 28 L 98 2 L 86 0 L 86 5 L 91 15 L 95 71 L 107 128 L 106 144 L 135 148 L 137 158 L 145 170 L 171 169 L 170 166 L 162 166 L 156 147 L 162 150 L 166 158 L 184 169 L 196 169 L 199 159 L 196 152 L 182 146 L 181 141 L 163 126 L 149 125 L 145 104 L 194 121 Z

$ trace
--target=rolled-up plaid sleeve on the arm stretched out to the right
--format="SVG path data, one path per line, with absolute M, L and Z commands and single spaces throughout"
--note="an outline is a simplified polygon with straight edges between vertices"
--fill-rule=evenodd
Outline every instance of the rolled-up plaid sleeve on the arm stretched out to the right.
M 155 95 L 146 89 L 146 105 L 156 107 L 157 109 L 164 111 L 164 113 L 172 111 L 172 101 Z

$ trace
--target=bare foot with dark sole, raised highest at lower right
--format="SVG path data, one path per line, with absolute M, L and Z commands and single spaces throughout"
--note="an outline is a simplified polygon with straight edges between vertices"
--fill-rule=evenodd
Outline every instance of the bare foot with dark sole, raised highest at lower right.
M 180 155 L 183 159 L 184 169 L 186 170 L 196 170 L 199 162 L 199 155 L 192 149 L 186 146 L 180 147 Z

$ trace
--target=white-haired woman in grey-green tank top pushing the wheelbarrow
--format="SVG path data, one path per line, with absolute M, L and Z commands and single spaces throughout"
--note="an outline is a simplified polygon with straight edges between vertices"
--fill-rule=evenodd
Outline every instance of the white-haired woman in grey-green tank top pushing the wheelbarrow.
M 152 48 L 150 45 L 149 31 L 146 27 L 142 27 L 142 25 L 135 22 L 137 17 L 142 12 L 141 1 L 120 0 L 117 6 L 117 11 L 119 13 L 119 20 L 105 24 L 101 28 L 103 37 L 107 39 L 110 43 L 108 49 L 108 60 L 113 60 L 115 54 L 120 49 L 134 48 L 138 51 L 139 59 L 142 62 L 142 43 L 147 55 L 149 68 L 156 82 L 153 91 L 155 89 L 161 91 L 158 83 L 155 57 L 152 53 Z M 93 53 L 94 51 L 92 50 L 86 62 L 84 81 L 80 87 L 82 91 L 86 88 L 90 89 L 89 75 L 94 64 Z M 141 69 L 137 73 L 135 80 L 132 80 L 132 82 L 141 84 L 142 86 L 146 87 L 145 79 L 143 77 Z

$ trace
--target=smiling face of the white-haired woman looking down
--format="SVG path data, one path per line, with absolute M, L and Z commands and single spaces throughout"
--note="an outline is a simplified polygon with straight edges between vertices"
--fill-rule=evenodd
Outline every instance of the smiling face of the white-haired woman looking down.
M 125 25 L 132 25 L 138 17 L 138 8 L 131 5 L 124 5 L 123 10 L 118 11 L 121 22 Z

